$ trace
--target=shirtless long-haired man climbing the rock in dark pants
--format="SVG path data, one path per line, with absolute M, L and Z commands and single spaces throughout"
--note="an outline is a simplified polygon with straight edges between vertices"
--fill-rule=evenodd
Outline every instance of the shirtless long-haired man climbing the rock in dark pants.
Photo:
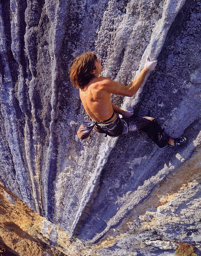
M 141 130 L 163 148 L 174 147 L 186 141 L 186 138 L 170 138 L 153 117 L 131 118 L 133 111 L 118 108 L 110 100 L 110 94 L 132 97 L 142 85 L 145 76 L 157 65 L 157 60 L 149 61 L 148 56 L 144 68 L 128 85 L 114 82 L 108 77 L 99 77 L 102 72 L 101 61 L 93 52 L 86 52 L 75 58 L 70 67 L 72 85 L 79 89 L 80 99 L 86 113 L 95 121 L 95 130 L 106 136 L 117 137 L 128 132 Z M 121 114 L 120 118 L 116 114 Z

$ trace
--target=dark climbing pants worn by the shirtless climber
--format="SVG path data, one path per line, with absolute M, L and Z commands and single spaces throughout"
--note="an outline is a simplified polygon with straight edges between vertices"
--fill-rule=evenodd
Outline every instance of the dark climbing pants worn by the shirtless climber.
M 136 118 L 119 118 L 118 116 L 112 124 L 104 126 L 95 124 L 95 130 L 111 137 L 117 137 L 127 133 L 124 129 L 124 122 L 127 124 L 127 132 L 143 131 L 159 148 L 164 148 L 170 139 L 158 122 L 149 116 Z

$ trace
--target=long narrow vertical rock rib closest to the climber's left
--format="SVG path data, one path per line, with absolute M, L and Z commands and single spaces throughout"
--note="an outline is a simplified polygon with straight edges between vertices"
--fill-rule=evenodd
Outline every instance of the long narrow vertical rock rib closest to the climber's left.
M 48 1 L 46 1 L 48 3 Z M 68 1 L 56 1 L 55 16 L 53 20 L 52 10 L 47 8 L 49 16 L 51 16 L 51 27 L 49 31 L 49 45 L 51 56 L 51 121 L 49 125 L 49 145 L 46 158 L 46 174 L 44 174 L 44 201 L 45 201 L 45 214 L 48 218 L 54 214 L 55 204 L 55 187 L 53 183 L 56 179 L 57 173 L 57 135 L 54 133 L 54 125 L 56 118 L 56 101 L 57 101 L 57 83 L 58 83 L 58 66 L 59 66 L 59 53 L 63 42 L 64 24 L 68 17 Z M 54 172 L 50 172 L 54 170 Z

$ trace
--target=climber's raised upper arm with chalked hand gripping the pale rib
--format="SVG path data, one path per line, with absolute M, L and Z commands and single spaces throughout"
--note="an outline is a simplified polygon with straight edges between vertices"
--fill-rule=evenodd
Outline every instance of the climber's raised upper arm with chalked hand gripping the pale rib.
M 120 82 L 114 82 L 109 78 L 105 78 L 104 80 L 105 90 L 110 93 L 132 97 L 138 91 L 140 86 L 143 84 L 145 80 L 145 76 L 149 72 L 154 70 L 156 65 L 157 65 L 157 60 L 149 61 L 149 57 L 147 56 L 144 68 L 128 86 L 125 86 Z

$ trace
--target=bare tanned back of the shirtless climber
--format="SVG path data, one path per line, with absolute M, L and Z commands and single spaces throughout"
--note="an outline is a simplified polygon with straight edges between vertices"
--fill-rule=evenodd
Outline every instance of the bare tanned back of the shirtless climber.
M 93 121 L 107 120 L 113 114 L 110 93 L 105 90 L 103 84 L 103 77 L 94 78 L 85 86 L 84 90 L 79 90 L 86 113 Z

